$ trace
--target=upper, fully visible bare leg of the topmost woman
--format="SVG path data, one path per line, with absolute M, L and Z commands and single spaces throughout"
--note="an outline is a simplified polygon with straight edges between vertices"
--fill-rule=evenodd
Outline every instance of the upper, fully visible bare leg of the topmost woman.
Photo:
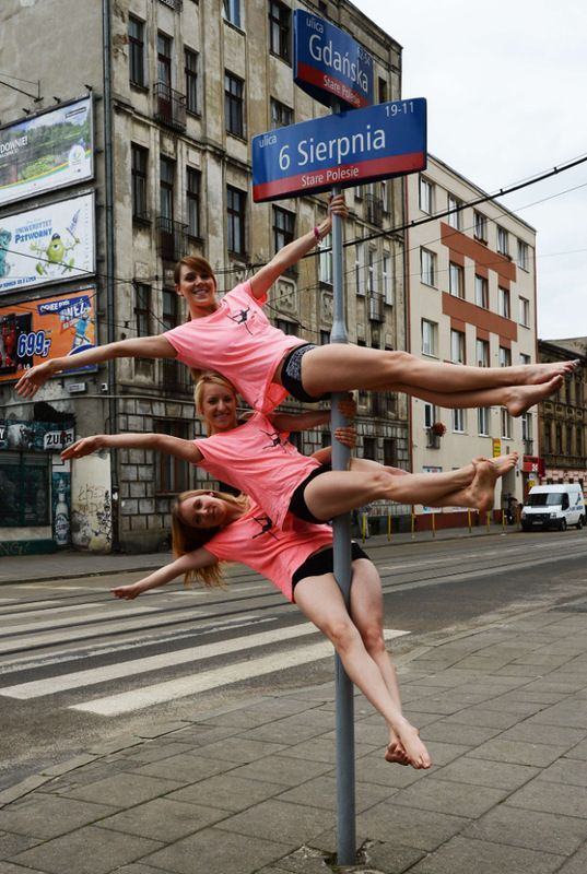
M 302 381 L 304 389 L 316 397 L 328 391 L 353 389 L 392 391 L 397 385 L 451 393 L 549 382 L 553 377 L 572 373 L 576 367 L 575 362 L 468 367 L 428 362 L 408 352 L 332 343 L 317 346 L 304 355 Z

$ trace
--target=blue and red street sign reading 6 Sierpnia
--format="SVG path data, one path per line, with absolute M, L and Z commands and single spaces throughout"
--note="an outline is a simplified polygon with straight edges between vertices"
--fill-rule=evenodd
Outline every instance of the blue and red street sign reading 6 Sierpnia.
M 394 101 L 253 138 L 256 202 L 348 188 L 426 166 L 426 101 Z

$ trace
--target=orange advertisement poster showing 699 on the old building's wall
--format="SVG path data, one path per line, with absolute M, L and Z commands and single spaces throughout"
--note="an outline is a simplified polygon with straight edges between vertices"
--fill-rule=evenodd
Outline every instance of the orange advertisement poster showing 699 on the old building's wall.
M 96 344 L 95 287 L 0 307 L 0 382 Z M 96 365 L 68 370 L 95 370 Z

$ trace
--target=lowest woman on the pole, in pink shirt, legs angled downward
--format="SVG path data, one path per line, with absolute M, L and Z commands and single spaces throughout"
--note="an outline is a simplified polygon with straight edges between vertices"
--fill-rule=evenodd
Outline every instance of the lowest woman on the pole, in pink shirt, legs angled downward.
M 175 562 L 131 586 L 113 589 L 117 598 L 137 598 L 180 575 L 186 582 L 200 579 L 218 586 L 223 582 L 219 562 L 248 565 L 271 580 L 332 641 L 349 677 L 387 723 L 385 758 L 430 768 L 418 730 L 401 712 L 396 670 L 386 650 L 379 575 L 357 544 L 353 544 L 349 612 L 332 574 L 328 525 L 301 524 L 295 531 L 279 531 L 245 495 L 235 498 L 195 491 L 179 495 L 173 532 Z

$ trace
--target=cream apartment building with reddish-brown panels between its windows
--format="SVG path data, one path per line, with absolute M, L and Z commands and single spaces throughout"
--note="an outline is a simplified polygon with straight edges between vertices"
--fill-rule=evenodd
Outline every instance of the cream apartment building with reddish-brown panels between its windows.
M 408 177 L 407 198 L 415 223 L 407 237 L 410 351 L 477 367 L 536 362 L 533 228 L 432 155 L 424 173 Z M 476 201 L 482 202 L 469 205 Z M 518 469 L 498 485 L 496 508 L 508 496 L 523 499 L 539 456 L 537 435 L 536 409 L 513 418 L 505 408 L 447 410 L 411 401 L 413 471 L 449 471 L 476 456 L 519 452 Z M 434 522 L 466 520 L 459 508 L 447 508 Z

